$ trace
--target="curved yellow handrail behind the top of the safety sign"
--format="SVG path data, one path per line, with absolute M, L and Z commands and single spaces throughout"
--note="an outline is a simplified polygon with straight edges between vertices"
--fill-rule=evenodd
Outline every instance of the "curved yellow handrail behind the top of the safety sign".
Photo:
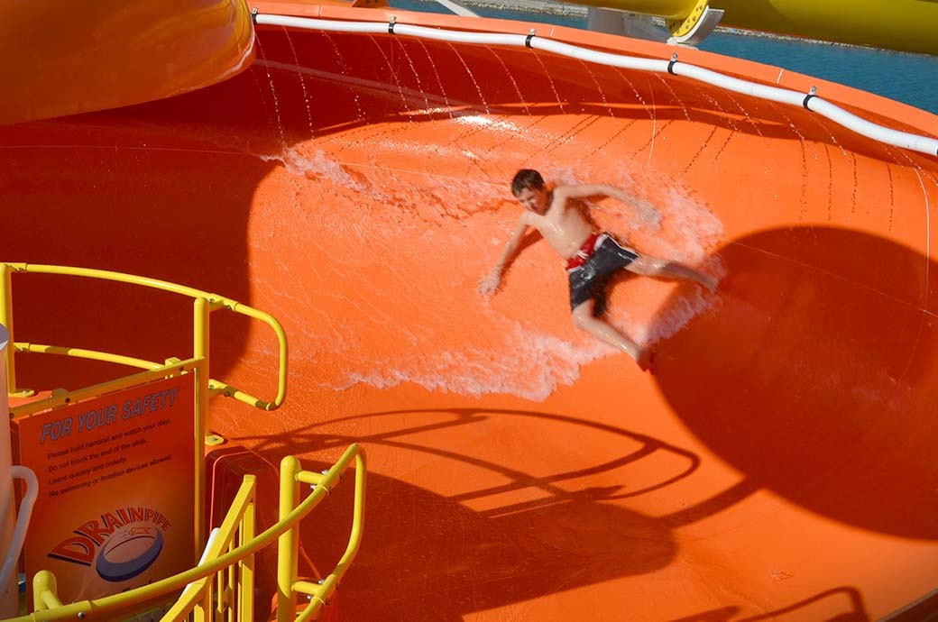
M 226 397 L 232 397 L 240 402 L 248 403 L 257 408 L 271 411 L 279 408 L 286 399 L 287 390 L 287 341 L 286 333 L 280 322 L 272 315 L 264 311 L 258 311 L 248 305 L 244 305 L 232 298 L 211 294 L 202 290 L 179 285 L 170 281 L 160 281 L 159 279 L 150 279 L 137 275 L 125 274 L 123 272 L 113 272 L 110 270 L 98 270 L 94 268 L 73 267 L 67 265 L 40 265 L 40 264 L 0 264 L 0 324 L 7 326 L 10 340 L 13 340 L 13 305 L 12 296 L 10 296 L 12 285 L 10 275 L 12 273 L 31 273 L 31 274 L 55 274 L 73 277 L 83 277 L 89 279 L 98 279 L 103 281 L 116 281 L 134 285 L 142 285 L 153 289 L 159 289 L 164 292 L 171 292 L 180 296 L 189 296 L 193 299 L 195 308 L 194 337 L 193 337 L 193 357 L 200 357 L 208 351 L 208 314 L 218 309 L 228 309 L 235 313 L 247 315 L 250 318 L 264 322 L 270 326 L 280 346 L 277 396 L 273 401 L 267 402 L 256 398 L 249 393 L 238 388 L 231 387 L 227 383 L 209 379 L 209 391 L 211 395 L 223 394 Z M 201 301 L 201 302 L 200 302 Z M 21 347 L 22 346 L 22 347 Z M 144 369 L 153 369 L 159 366 L 159 363 L 144 361 L 139 358 L 123 357 L 93 350 L 83 350 L 80 348 L 70 348 L 64 346 L 37 346 L 29 343 L 16 343 L 15 348 L 7 350 L 7 390 L 10 395 L 17 393 L 16 371 L 13 355 L 15 352 L 45 352 L 49 354 L 60 354 L 72 357 L 86 357 L 96 360 L 119 363 L 143 367 Z

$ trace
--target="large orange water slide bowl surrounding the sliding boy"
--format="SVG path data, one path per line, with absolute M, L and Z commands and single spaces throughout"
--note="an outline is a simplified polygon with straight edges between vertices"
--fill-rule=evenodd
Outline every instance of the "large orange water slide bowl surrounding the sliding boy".
M 262 11 L 287 8 L 366 19 Z M 280 319 L 287 405 L 216 402 L 212 426 L 270 463 L 367 448 L 341 619 L 866 621 L 934 588 L 938 160 L 804 109 L 551 53 L 257 34 L 257 61 L 225 83 L 4 128 L 3 244 L 11 260 L 184 282 Z M 938 133 L 933 115 L 846 87 L 681 57 Z M 612 200 L 599 224 L 721 279 L 715 296 L 614 284 L 611 320 L 655 344 L 655 376 L 575 330 L 543 242 L 478 296 L 520 213 L 520 167 L 634 190 L 659 230 Z M 187 308 L 126 293 L 24 281 L 17 340 L 114 349 L 117 333 L 122 353 L 187 351 Z M 102 323 L 105 296 L 119 304 Z M 219 325 L 213 375 L 263 393 L 272 339 Z M 107 372 L 25 357 L 21 384 Z M 342 506 L 305 535 L 308 569 L 340 554 Z

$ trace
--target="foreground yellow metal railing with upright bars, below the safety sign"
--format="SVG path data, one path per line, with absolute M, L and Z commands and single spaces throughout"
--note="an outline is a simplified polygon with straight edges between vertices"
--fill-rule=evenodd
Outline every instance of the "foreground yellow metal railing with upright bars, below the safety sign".
M 322 502 L 353 463 L 356 467 L 355 506 L 345 553 L 336 568 L 321 584 L 299 581 L 296 573 L 299 523 Z M 275 539 L 279 539 L 280 552 L 278 621 L 313 620 L 322 612 L 358 551 L 364 525 L 365 468 L 365 452 L 358 445 L 347 448 L 339 461 L 321 474 L 301 470 L 299 461 L 293 456 L 288 456 L 280 463 L 280 520 L 260 535 L 245 539 L 253 530 L 250 503 L 253 497 L 253 482 L 246 478 L 222 527 L 219 528 L 219 536 L 209 545 L 203 562 L 195 568 L 127 592 L 66 605 L 55 596 L 53 575 L 49 572 L 39 572 L 34 581 L 36 613 L 10 618 L 5 622 L 73 622 L 76 618 L 82 619 L 83 622 L 94 622 L 98 619 L 108 619 L 109 615 L 115 612 L 129 611 L 134 605 L 152 602 L 179 590 L 182 590 L 182 595 L 160 622 L 181 622 L 187 619 L 189 614 L 192 614 L 195 622 L 251 622 L 252 590 L 247 589 L 247 582 L 253 582 L 252 558 Z M 314 484 L 312 491 L 294 508 L 283 513 L 282 510 L 298 498 L 300 483 Z M 251 526 L 247 526 L 249 521 Z M 240 525 L 237 528 L 240 536 L 239 544 L 231 548 L 231 543 L 234 542 L 233 525 Z M 226 535 L 222 537 L 220 532 L 225 532 Z M 240 541 L 241 539 L 244 541 Z M 226 549 L 227 553 L 222 553 Z M 214 588 L 209 589 L 209 584 L 214 584 Z M 295 616 L 297 594 L 307 594 L 311 598 L 310 605 L 299 617 Z

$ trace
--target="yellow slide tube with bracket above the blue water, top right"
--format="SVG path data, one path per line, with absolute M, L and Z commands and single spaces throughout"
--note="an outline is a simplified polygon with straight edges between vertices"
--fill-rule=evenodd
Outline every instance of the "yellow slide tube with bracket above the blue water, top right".
M 720 25 L 874 48 L 938 53 L 938 3 L 923 0 L 569 0 L 662 17 L 673 37 L 692 30 L 707 8 Z

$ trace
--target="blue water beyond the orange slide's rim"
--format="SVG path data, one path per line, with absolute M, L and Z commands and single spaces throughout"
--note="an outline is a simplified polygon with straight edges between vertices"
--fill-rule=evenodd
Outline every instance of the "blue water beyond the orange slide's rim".
M 389 1 L 393 7 L 406 10 L 449 12 L 435 2 Z M 586 28 L 586 19 L 579 16 L 483 7 L 471 9 L 483 17 Z M 711 35 L 699 47 L 707 52 L 745 58 L 846 84 L 938 114 L 938 56 L 724 33 Z

